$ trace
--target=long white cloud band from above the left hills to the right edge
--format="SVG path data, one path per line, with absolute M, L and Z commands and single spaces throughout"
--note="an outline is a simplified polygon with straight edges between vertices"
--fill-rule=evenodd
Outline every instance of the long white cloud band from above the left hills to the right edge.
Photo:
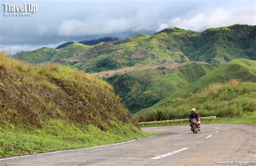
M 163 17 L 160 9 L 141 9 L 134 15 L 119 18 L 98 15 L 84 20 L 63 20 L 59 26 L 58 34 L 67 37 L 140 31 L 157 32 L 167 27 L 202 31 L 209 27 L 228 26 L 237 23 L 255 25 L 255 17 L 254 6 L 248 4 L 244 6 L 226 5 L 221 8 L 198 11 L 191 9 L 175 18 Z

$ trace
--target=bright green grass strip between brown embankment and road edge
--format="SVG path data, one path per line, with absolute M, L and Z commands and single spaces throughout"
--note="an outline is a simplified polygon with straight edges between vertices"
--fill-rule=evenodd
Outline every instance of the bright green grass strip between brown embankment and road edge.
M 78 125 L 50 120 L 40 128 L 31 125 L 0 125 L 0 158 L 99 146 L 138 139 L 153 134 L 142 133 L 134 125 L 112 121 L 106 132 L 93 125 Z

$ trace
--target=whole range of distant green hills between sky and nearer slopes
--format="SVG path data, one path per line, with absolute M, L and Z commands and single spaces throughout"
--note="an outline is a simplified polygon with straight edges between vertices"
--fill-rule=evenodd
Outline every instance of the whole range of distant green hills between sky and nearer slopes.
M 214 67 L 233 59 L 256 60 L 255 33 L 256 26 L 240 24 L 203 32 L 173 28 L 92 46 L 44 47 L 15 58 L 36 64 L 57 62 L 92 73 L 109 82 L 125 107 L 136 113 Z

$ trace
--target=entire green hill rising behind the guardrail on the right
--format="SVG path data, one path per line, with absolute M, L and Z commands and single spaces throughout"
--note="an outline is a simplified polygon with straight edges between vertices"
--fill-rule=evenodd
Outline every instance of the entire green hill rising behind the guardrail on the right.
M 229 116 L 223 111 L 231 109 L 230 103 L 233 104 L 232 109 L 239 106 L 241 111 L 245 108 L 253 112 L 256 108 L 255 82 L 256 61 L 235 59 L 171 93 L 154 106 L 141 110 L 136 118 L 139 121 L 184 118 L 191 107 L 198 108 L 203 115 Z M 248 108 L 247 102 L 251 108 Z M 232 113 L 230 116 L 233 115 L 237 114 Z

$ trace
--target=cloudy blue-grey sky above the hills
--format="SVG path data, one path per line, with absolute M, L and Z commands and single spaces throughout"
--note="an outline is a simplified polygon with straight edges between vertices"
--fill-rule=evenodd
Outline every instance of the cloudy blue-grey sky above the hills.
M 5 17 L 4 3 L 32 3 L 31 16 Z M 233 24 L 255 25 L 256 1 L 66 1 L 1 0 L 0 50 L 10 54 L 55 48 L 66 41 L 102 37 L 124 39 L 179 27 L 204 31 Z

